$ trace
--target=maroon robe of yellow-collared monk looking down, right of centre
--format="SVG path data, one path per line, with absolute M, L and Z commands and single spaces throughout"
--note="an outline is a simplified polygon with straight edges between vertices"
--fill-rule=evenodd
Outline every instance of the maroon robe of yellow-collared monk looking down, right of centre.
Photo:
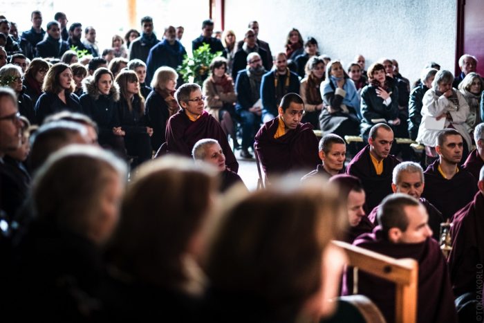
M 383 172 L 376 174 L 375 166 L 371 162 L 370 146 L 366 145 L 346 167 L 346 174 L 360 178 L 366 193 L 365 212 L 369 214 L 373 207 L 382 202 L 385 196 L 393 194 L 391 190 L 391 176 L 393 168 L 400 164 L 400 160 L 389 155 L 383 160 Z

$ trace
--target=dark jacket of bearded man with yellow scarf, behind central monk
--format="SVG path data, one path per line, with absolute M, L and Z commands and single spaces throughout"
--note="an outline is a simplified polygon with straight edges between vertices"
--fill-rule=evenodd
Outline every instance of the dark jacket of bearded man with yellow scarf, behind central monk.
M 277 107 L 280 102 L 276 100 L 276 89 L 274 87 L 274 74 L 277 71 L 270 71 L 263 75 L 261 83 L 261 99 L 262 99 L 262 115 L 271 113 L 272 116 L 277 116 Z M 278 75 L 279 76 L 279 75 Z M 288 89 L 283 89 L 283 95 L 287 93 L 299 94 L 299 77 L 296 73 L 290 72 Z M 283 88 L 283 82 L 279 82 L 278 86 Z

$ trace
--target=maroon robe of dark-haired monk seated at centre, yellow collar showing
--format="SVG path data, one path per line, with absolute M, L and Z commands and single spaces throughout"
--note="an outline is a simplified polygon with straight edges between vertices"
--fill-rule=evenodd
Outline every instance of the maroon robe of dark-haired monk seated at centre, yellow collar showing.
M 291 170 L 314 169 L 321 163 L 310 123 L 299 123 L 296 129 L 274 139 L 277 127 L 279 117 L 263 124 L 254 138 L 254 148 L 268 177 Z

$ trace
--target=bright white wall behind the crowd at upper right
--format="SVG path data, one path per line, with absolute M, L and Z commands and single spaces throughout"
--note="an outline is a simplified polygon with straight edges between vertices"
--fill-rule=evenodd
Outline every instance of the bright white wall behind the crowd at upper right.
M 359 53 L 366 67 L 380 57 L 394 58 L 413 82 L 430 60 L 454 71 L 456 10 L 450 0 L 225 0 L 225 29 L 239 40 L 248 21 L 259 21 L 259 38 L 274 54 L 295 27 L 344 66 Z

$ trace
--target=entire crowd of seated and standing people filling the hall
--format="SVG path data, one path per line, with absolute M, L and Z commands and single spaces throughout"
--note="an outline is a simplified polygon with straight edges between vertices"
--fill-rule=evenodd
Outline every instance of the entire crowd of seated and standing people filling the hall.
M 411 86 L 395 59 L 346 65 L 296 28 L 272 56 L 257 21 L 237 42 L 207 19 L 192 49 L 223 57 L 195 84 L 180 77 L 182 26 L 158 39 L 143 17 L 102 48 L 63 12 L 31 21 L 19 33 L 0 17 L 0 304 L 14 321 L 337 320 L 328 300 L 353 276 L 331 239 L 416 259 L 418 322 L 482 306 L 476 57 L 456 77 L 427 64 Z M 257 192 L 237 174 L 252 154 Z M 392 287 L 359 282 L 393 322 Z

